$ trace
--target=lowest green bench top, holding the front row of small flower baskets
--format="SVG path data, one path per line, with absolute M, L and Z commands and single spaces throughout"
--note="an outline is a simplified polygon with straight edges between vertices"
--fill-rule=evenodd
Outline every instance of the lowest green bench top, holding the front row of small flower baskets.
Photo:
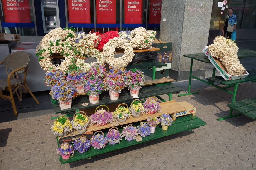
M 198 127 L 204 126 L 204 125 L 206 125 L 206 122 L 202 121 L 201 119 L 199 119 L 196 116 L 187 115 L 187 116 L 183 116 L 183 117 L 177 117 L 176 121 L 173 121 L 172 125 L 169 126 L 166 131 L 163 131 L 161 125 L 158 125 L 156 127 L 155 133 L 151 133 L 150 136 L 142 137 L 142 142 L 147 142 L 150 140 L 158 139 L 158 138 L 161 138 L 164 136 L 169 136 L 169 135 L 179 133 L 182 131 L 195 129 L 195 128 L 198 128 Z M 122 129 L 119 129 L 119 131 L 121 132 Z M 104 136 L 106 136 L 106 132 L 104 133 Z M 58 137 L 57 137 L 57 139 L 58 139 Z M 140 144 L 142 142 L 137 142 L 136 140 L 128 141 L 123 138 L 120 141 L 120 144 L 109 145 L 109 143 L 107 143 L 107 145 L 104 149 L 92 148 L 89 151 L 84 152 L 84 153 L 79 153 L 78 151 L 75 151 L 75 154 L 71 155 L 69 159 L 62 159 L 62 157 L 60 156 L 60 162 L 61 162 L 61 164 L 74 162 L 74 161 L 77 161 L 80 159 L 85 159 L 85 158 L 92 157 L 92 156 L 95 156 L 98 154 L 103 154 L 103 153 L 113 151 L 116 149 L 121 149 L 121 148 L 128 147 L 131 145 Z M 58 147 L 59 147 L 59 144 L 58 144 Z

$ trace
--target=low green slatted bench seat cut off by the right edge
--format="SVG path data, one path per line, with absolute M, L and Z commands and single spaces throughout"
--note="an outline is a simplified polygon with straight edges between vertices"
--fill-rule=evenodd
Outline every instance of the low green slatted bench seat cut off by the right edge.
M 227 106 L 238 111 L 240 115 L 244 114 L 251 119 L 256 119 L 256 97 L 230 103 Z

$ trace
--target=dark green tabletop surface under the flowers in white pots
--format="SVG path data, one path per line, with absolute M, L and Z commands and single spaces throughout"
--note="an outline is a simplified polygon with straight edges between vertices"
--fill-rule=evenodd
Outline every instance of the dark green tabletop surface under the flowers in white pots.
M 142 98 L 147 98 L 147 97 L 152 97 L 152 96 L 157 96 L 162 94 L 179 93 L 181 91 L 184 91 L 184 89 L 173 84 L 162 85 L 162 86 L 149 86 L 149 87 L 143 87 L 140 89 L 139 98 L 142 99 Z M 119 94 L 118 100 L 110 100 L 109 93 L 105 93 L 105 94 L 99 95 L 99 103 L 91 104 L 89 103 L 89 98 L 86 95 L 84 97 L 73 99 L 72 107 L 70 109 L 61 110 L 58 103 L 53 104 L 53 109 L 55 113 L 66 113 L 66 112 L 72 112 L 76 109 L 93 108 L 99 105 L 123 103 L 123 102 L 128 102 L 133 100 L 134 98 L 130 96 L 130 91 L 126 90 L 126 91 L 122 91 Z M 81 105 L 82 103 L 89 103 L 89 104 L 87 106 L 82 106 Z

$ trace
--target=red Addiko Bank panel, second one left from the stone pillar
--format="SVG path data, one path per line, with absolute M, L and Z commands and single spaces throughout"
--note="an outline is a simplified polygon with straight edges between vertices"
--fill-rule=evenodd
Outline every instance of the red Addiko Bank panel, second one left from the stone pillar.
M 142 0 L 124 0 L 124 23 L 142 24 Z

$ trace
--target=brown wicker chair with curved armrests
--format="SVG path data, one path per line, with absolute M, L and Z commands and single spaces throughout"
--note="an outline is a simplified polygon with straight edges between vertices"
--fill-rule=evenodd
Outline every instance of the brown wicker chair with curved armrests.
M 22 101 L 22 92 L 29 92 L 33 99 L 36 101 L 36 103 L 39 104 L 36 97 L 33 95 L 33 93 L 29 90 L 29 88 L 26 85 L 26 76 L 29 60 L 29 53 L 24 51 L 17 51 L 9 54 L 7 57 L 5 57 L 5 59 L 2 62 L 0 62 L 0 64 L 5 65 L 8 74 L 7 79 L 0 80 L 0 97 L 8 99 L 12 102 L 13 112 L 16 116 L 18 114 L 13 98 L 14 93 L 17 94 L 19 101 Z M 8 69 L 12 72 L 9 73 Z M 20 79 L 17 73 L 24 73 L 23 79 Z M 4 95 L 2 90 L 8 90 L 10 92 L 10 96 Z

